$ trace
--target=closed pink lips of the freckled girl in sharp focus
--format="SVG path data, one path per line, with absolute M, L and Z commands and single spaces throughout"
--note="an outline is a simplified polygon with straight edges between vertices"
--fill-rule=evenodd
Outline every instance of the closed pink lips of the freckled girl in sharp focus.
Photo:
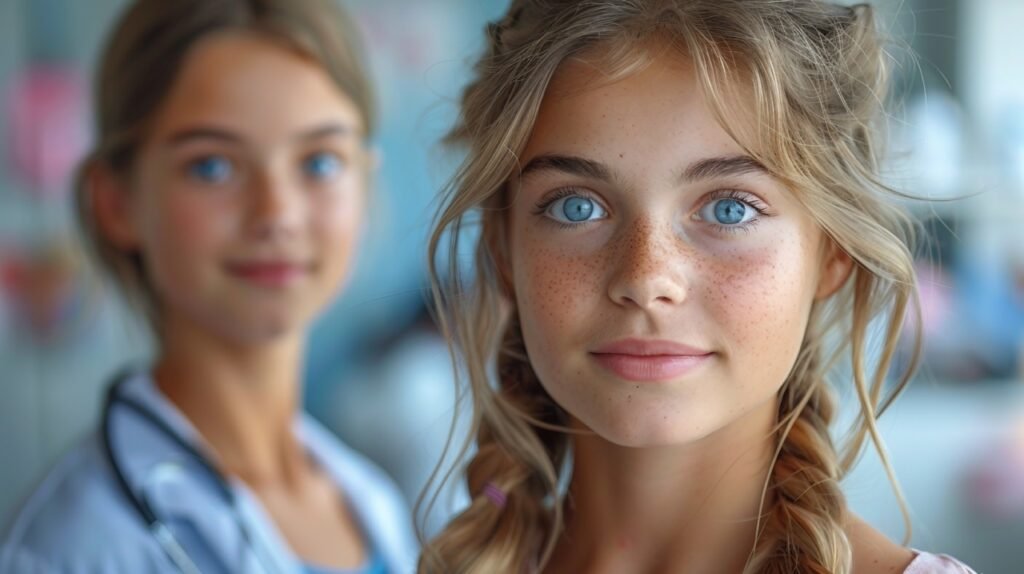
M 682 377 L 715 353 L 671 341 L 624 339 L 591 351 L 594 359 L 627 381 L 657 382 Z

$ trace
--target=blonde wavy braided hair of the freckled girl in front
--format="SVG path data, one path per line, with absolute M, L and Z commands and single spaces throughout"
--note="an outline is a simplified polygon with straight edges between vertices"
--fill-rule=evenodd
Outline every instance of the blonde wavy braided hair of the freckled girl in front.
M 649 59 L 651 40 L 668 40 L 692 60 L 720 123 L 794 190 L 854 262 L 844 286 L 812 309 L 779 391 L 776 450 L 744 572 L 850 571 L 840 481 L 868 440 L 909 536 L 876 420 L 916 363 L 914 350 L 910 367 L 884 396 L 904 315 L 918 304 L 915 226 L 879 178 L 876 139 L 888 82 L 876 26 L 867 5 L 817 0 L 513 0 L 488 27 L 489 46 L 449 138 L 467 156 L 445 190 L 430 241 L 438 320 L 472 396 L 477 450 L 466 479 L 473 500 L 426 544 L 420 572 L 519 573 L 543 569 L 551 556 L 562 525 L 559 484 L 570 435 L 566 413 L 530 367 L 515 301 L 503 286 L 506 184 L 564 61 L 600 50 L 614 79 Z M 725 109 L 737 87 L 753 94 L 743 101 L 759 127 L 746 137 Z M 474 224 L 479 236 L 466 239 Z M 462 268 L 467 240 L 475 242 L 469 272 Z M 881 356 L 869 361 L 874 320 L 885 340 Z M 839 451 L 828 433 L 835 399 L 825 376 L 846 353 L 860 411 Z M 507 493 L 504 509 L 482 493 L 487 483 Z

